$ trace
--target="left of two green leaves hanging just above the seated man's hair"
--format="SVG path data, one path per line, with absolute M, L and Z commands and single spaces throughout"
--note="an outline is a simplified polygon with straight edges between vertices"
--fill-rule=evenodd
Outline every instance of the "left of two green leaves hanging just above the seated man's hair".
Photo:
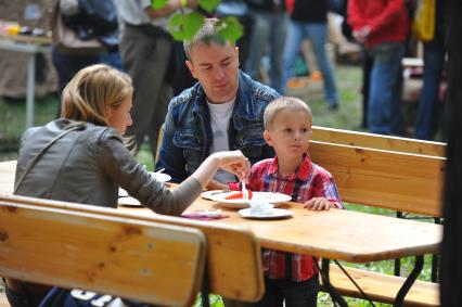
M 204 24 L 204 16 L 197 12 L 176 13 L 168 23 L 169 31 L 176 40 L 192 40 Z

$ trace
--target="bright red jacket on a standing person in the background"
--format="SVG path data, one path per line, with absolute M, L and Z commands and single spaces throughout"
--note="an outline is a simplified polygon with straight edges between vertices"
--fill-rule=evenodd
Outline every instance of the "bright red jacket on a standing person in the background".
M 405 0 L 348 0 L 347 21 L 352 30 L 371 28 L 365 47 L 405 41 L 410 26 Z

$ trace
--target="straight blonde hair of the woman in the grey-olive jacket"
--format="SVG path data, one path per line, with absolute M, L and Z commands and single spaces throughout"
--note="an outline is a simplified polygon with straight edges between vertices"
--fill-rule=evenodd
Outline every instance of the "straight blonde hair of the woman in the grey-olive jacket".
M 108 126 L 107 107 L 133 92 L 130 77 L 104 64 L 79 71 L 63 91 L 61 117 Z

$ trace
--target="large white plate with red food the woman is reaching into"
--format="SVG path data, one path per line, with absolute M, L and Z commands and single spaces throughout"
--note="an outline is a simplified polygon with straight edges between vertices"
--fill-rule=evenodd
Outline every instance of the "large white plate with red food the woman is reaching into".
M 227 200 L 227 196 L 230 196 L 234 193 L 240 193 L 240 191 L 227 191 L 222 193 L 216 193 L 210 195 L 210 200 L 219 202 L 223 207 L 232 209 L 242 209 L 248 208 L 248 200 Z M 253 200 L 261 200 L 264 202 L 273 204 L 275 207 L 283 202 L 288 202 L 292 200 L 291 196 L 282 193 L 272 193 L 272 192 L 252 192 Z

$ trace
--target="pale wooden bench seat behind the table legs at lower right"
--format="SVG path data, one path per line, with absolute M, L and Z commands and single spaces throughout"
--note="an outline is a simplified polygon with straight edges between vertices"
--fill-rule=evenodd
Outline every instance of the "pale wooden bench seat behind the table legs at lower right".
M 372 299 L 393 304 L 396 294 L 405 282 L 405 278 L 367 271 L 363 269 L 346 268 L 346 271 Z M 351 281 L 336 266 L 330 266 L 331 283 L 343 295 L 363 298 Z M 406 306 L 440 306 L 439 285 L 432 282 L 415 281 L 405 299 Z

